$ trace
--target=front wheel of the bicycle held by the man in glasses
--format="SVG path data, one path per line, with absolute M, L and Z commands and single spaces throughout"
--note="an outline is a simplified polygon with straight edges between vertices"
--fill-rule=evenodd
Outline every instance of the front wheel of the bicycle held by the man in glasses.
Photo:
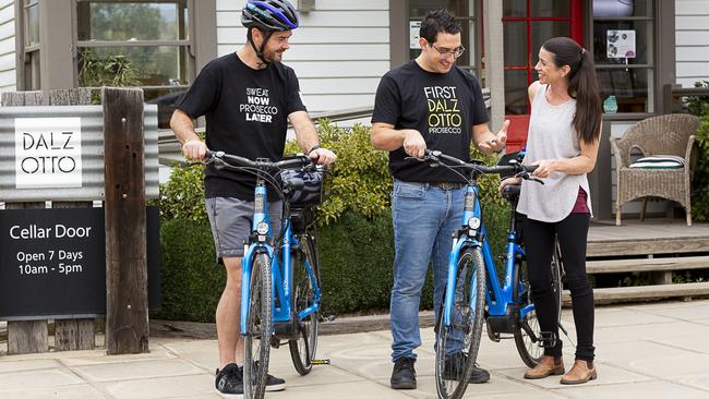
M 458 259 L 450 325 L 443 323 L 445 292 L 436 323 L 435 382 L 438 397 L 461 398 L 476 361 L 485 306 L 485 266 L 480 249 L 466 249 Z

